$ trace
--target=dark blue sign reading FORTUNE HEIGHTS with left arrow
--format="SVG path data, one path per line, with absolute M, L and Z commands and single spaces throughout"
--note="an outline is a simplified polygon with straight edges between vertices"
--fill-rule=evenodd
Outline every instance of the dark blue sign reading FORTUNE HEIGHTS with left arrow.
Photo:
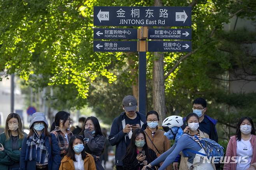
M 93 41 L 95 52 L 137 52 L 137 41 Z

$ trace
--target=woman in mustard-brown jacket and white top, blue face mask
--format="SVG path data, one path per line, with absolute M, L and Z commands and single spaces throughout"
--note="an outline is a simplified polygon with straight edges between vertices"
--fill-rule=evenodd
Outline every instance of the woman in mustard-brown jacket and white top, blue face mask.
M 96 170 L 93 156 L 84 150 L 84 141 L 80 135 L 74 135 L 68 143 L 68 151 L 59 170 Z

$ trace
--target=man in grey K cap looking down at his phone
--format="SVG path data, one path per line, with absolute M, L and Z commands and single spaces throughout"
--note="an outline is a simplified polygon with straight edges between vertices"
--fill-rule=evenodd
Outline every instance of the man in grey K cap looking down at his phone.
M 112 123 L 109 135 L 109 143 L 116 145 L 115 164 L 117 170 L 123 170 L 122 159 L 126 153 L 126 148 L 130 144 L 133 130 L 145 129 L 146 116 L 137 112 L 137 99 L 128 95 L 123 99 L 124 112 L 116 117 Z

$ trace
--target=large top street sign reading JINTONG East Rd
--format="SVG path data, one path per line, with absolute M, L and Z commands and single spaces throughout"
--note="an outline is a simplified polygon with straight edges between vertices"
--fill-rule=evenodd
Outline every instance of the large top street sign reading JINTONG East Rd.
M 191 26 L 191 7 L 93 7 L 95 26 Z

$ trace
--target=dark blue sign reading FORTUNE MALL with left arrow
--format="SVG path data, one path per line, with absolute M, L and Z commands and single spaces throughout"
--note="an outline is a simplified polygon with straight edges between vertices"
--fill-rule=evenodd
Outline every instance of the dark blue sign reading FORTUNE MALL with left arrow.
M 94 39 L 138 39 L 134 28 L 94 28 Z

